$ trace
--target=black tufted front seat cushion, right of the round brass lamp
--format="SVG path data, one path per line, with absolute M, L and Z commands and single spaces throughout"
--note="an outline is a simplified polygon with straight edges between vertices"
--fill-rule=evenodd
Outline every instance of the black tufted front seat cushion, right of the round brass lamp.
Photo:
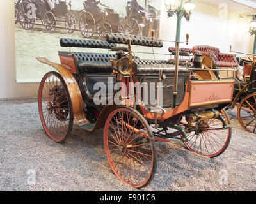
M 184 63 L 180 63 L 179 66 L 179 73 L 189 73 Z M 137 75 L 159 74 L 160 70 L 163 70 L 163 74 L 174 74 L 175 62 L 137 59 L 134 62 L 134 69 Z

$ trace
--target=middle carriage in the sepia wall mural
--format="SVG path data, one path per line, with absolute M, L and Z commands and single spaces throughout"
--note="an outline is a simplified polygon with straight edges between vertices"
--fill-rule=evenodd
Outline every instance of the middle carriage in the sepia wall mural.
M 105 38 L 106 33 L 124 33 L 119 14 L 113 9 L 95 0 L 86 0 L 83 5 L 79 27 L 84 38 L 91 38 L 95 30 L 102 38 Z

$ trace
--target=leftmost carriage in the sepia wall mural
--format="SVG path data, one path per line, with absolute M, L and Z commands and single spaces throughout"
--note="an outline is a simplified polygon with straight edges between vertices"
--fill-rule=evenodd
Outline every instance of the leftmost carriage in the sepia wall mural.
M 15 3 L 15 23 L 20 22 L 23 29 L 34 27 L 41 20 L 48 33 L 56 30 L 57 22 L 65 24 L 68 33 L 76 29 L 76 18 L 71 13 L 71 0 L 19 0 Z

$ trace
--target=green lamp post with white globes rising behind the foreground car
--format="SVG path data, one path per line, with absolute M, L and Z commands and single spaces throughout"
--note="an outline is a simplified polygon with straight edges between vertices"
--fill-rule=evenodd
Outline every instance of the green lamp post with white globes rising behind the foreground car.
M 187 21 L 190 20 L 190 15 L 194 11 L 195 3 L 193 3 L 192 0 L 187 0 L 183 5 L 183 0 L 179 0 L 178 3 L 177 0 L 165 0 L 165 5 L 168 17 L 177 15 L 176 41 L 180 41 L 181 19 L 184 17 Z

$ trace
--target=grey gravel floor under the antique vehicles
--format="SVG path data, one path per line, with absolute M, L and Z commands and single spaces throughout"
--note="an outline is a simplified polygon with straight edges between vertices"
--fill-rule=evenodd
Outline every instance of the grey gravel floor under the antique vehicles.
M 35 99 L 0 101 L 0 110 L 0 191 L 256 191 L 256 135 L 243 131 L 234 111 L 221 156 L 157 142 L 156 175 L 138 190 L 111 172 L 102 129 L 88 133 L 75 125 L 61 145 L 45 135 Z

